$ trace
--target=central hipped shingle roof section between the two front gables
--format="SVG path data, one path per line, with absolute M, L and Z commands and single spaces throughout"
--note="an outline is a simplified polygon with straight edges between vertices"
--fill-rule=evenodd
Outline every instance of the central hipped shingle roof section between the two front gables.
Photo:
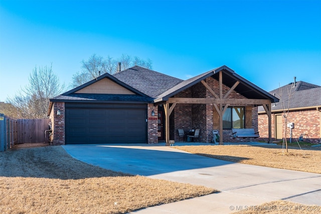
M 152 98 L 183 82 L 181 79 L 139 66 L 123 70 L 113 76 Z

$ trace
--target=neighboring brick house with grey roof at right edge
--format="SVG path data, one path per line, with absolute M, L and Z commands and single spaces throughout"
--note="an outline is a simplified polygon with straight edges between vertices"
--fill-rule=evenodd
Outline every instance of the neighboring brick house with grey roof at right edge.
M 321 86 L 306 82 L 294 82 L 269 92 L 280 99 L 272 104 L 272 137 L 281 140 L 285 130 L 283 109 L 288 111 L 287 122 L 294 123 L 292 139 L 319 142 L 321 138 Z M 289 94 L 290 93 L 290 97 Z M 289 101 L 289 102 L 288 102 Z M 283 107 L 282 103 L 283 102 Z M 289 105 L 288 105 L 289 103 Z M 260 136 L 268 138 L 267 116 L 262 107 L 258 108 Z M 286 127 L 286 137 L 290 137 L 290 128 Z M 294 140 L 295 141 L 295 140 Z M 296 141 L 295 141 L 296 142 Z

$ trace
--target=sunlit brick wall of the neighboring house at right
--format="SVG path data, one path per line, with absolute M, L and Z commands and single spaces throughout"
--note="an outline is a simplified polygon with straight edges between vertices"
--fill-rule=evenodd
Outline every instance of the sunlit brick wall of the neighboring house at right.
M 275 140 L 275 115 L 280 113 L 272 114 L 272 138 Z M 285 130 L 285 119 L 282 118 L 282 136 Z M 262 139 L 268 138 L 268 124 L 267 124 L 267 115 L 260 114 L 258 115 L 258 127 L 260 132 L 260 137 Z M 287 116 L 287 123 L 293 122 L 294 129 L 292 129 L 292 139 L 299 138 L 300 134 L 305 133 L 309 136 L 310 142 L 318 142 L 320 141 L 320 112 L 314 109 L 306 109 L 306 110 L 296 110 L 290 111 Z M 287 128 L 286 137 L 290 137 L 290 129 Z M 305 137 L 305 135 L 304 135 Z

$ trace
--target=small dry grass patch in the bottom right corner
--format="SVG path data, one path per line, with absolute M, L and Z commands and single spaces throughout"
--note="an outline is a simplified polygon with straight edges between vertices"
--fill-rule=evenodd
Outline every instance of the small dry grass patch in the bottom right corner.
M 236 207 L 234 207 L 236 208 Z M 240 207 L 239 207 L 240 208 Z M 305 205 L 301 203 L 294 203 L 285 200 L 275 200 L 268 203 L 263 203 L 257 206 L 242 206 L 243 210 L 233 212 L 233 214 L 279 214 L 279 213 L 291 213 L 291 214 L 316 214 L 321 213 L 321 206 L 318 205 Z

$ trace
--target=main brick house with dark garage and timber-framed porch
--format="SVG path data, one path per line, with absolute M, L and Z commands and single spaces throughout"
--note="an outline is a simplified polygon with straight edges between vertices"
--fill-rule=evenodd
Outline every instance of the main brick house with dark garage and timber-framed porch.
M 257 106 L 270 112 L 273 102 L 226 66 L 185 81 L 134 66 L 52 98 L 48 115 L 55 145 L 177 141 L 178 129 L 197 128 L 197 141 L 211 142 L 217 129 L 222 144 L 252 140 L 233 138 L 231 128 L 257 131 Z

